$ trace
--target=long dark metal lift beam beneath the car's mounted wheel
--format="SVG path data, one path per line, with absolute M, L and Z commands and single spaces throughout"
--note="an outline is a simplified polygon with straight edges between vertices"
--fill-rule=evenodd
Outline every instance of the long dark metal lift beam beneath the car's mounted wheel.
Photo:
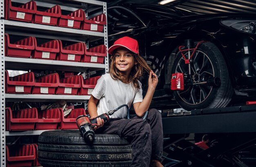
M 256 132 L 256 111 L 162 118 L 164 134 Z

